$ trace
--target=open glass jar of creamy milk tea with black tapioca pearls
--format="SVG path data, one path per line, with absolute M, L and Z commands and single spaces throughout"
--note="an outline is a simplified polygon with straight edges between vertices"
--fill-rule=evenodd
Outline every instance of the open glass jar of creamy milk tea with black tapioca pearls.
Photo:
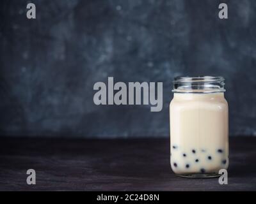
M 170 103 L 171 166 L 181 177 L 228 168 L 228 103 L 223 77 L 177 77 Z

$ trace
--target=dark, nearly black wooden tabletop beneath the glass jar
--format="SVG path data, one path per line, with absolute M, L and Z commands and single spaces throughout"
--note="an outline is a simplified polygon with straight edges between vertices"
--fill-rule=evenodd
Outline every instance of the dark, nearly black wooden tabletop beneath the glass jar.
M 168 139 L 0 139 L 0 190 L 252 191 L 256 138 L 230 138 L 228 185 L 183 179 L 170 169 Z M 26 171 L 36 171 L 36 185 Z

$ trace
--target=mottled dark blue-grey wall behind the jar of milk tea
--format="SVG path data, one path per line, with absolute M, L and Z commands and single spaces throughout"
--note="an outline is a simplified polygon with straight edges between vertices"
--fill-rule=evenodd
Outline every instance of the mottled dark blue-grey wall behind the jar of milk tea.
M 0 135 L 168 136 L 177 75 L 225 77 L 230 135 L 256 135 L 256 1 L 29 2 L 0 5 Z M 94 105 L 108 77 L 163 82 L 163 111 Z

